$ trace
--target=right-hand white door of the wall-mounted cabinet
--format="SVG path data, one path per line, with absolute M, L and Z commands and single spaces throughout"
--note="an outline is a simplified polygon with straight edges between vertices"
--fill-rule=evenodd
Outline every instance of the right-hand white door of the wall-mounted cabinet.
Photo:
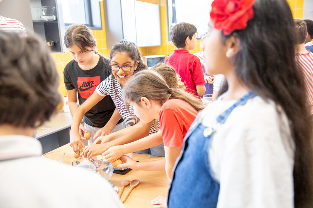
M 135 1 L 136 34 L 138 46 L 160 46 L 160 7 L 156 4 Z

